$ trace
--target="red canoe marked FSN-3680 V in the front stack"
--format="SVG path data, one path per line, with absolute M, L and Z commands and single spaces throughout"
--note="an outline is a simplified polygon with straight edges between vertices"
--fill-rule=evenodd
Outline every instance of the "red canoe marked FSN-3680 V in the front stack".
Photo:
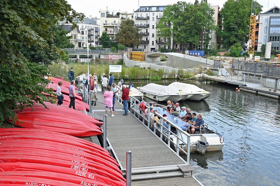
M 98 174 L 101 176 L 108 177 L 116 181 L 125 181 L 121 174 L 115 174 L 115 172 L 105 172 L 97 168 L 92 168 L 87 165 L 82 165 L 75 162 L 69 162 L 66 160 L 59 160 L 56 158 L 47 158 L 41 156 L 30 156 L 30 155 L 0 155 L 0 162 L 12 163 L 12 162 L 29 162 L 29 163 L 40 163 L 47 165 L 57 165 L 60 167 L 72 168 L 75 170 Z M 36 170 L 36 165 L 34 167 Z

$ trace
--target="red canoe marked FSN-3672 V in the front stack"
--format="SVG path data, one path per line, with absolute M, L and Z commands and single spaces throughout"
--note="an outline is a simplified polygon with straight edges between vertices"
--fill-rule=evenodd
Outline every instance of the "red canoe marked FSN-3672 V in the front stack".
M 79 179 L 77 177 L 82 177 L 82 178 L 89 178 L 90 180 L 98 181 L 112 186 L 125 185 L 125 182 L 123 181 L 121 182 L 115 181 L 110 178 L 100 176 L 97 174 L 93 175 L 91 173 L 65 168 L 65 167 L 59 167 L 55 165 L 46 165 L 46 164 L 39 164 L 39 163 L 36 163 L 35 165 L 35 163 L 26 163 L 26 162 L 0 163 L 0 171 L 9 171 L 9 172 L 26 171 L 27 172 L 31 170 L 34 171 L 34 167 L 36 167 L 36 171 L 67 174 L 69 176 L 75 177 L 75 179 Z M 5 174 L 5 172 L 2 173 L 0 172 L 0 175 L 2 174 Z M 44 176 L 44 174 L 42 174 L 42 176 Z M 59 177 L 57 177 L 57 179 L 59 179 Z

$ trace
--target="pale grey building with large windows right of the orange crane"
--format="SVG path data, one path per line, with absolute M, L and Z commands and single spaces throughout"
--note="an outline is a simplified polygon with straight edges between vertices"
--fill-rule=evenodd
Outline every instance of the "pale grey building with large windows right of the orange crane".
M 261 45 L 271 42 L 274 50 L 280 49 L 280 9 L 274 6 L 272 9 L 259 13 L 257 51 L 261 51 Z M 255 48 L 256 49 L 256 48 Z

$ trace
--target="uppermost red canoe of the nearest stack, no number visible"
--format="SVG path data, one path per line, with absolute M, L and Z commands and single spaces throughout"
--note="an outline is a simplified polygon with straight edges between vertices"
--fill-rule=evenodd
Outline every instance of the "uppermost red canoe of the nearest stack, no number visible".
M 105 154 L 107 154 L 107 155 L 110 155 L 110 153 L 107 150 L 105 150 L 104 148 L 102 148 L 101 146 L 99 146 L 95 143 L 83 140 L 81 138 L 69 136 L 67 134 L 62 134 L 62 133 L 57 133 L 57 132 L 52 132 L 52 131 L 44 131 L 44 130 L 39 130 L 39 129 L 34 129 L 34 128 L 0 128 L 0 132 L 1 132 L 1 134 L 3 134 L 0 136 L 15 135 L 15 132 L 21 132 L 21 134 L 37 134 L 37 136 L 62 138 L 61 141 L 54 140 L 54 139 L 52 139 L 52 141 L 55 141 L 55 142 L 57 141 L 59 143 L 65 143 L 65 144 L 70 144 L 70 145 L 74 145 L 74 146 L 81 146 L 84 148 L 94 148 L 96 150 L 105 152 Z M 44 138 L 44 140 L 47 141 L 46 138 Z M 112 158 L 112 160 L 115 160 L 115 159 Z

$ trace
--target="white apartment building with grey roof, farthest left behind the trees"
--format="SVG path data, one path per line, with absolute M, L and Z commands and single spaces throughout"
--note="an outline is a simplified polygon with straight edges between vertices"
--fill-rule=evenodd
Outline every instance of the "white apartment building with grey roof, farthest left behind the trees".
M 79 21 L 78 18 L 74 18 L 73 21 L 77 24 L 77 28 L 72 28 L 72 24 L 66 24 L 65 21 L 61 22 L 63 24 L 64 30 L 70 31 L 68 35 L 72 38 L 70 42 L 75 45 L 74 48 L 85 48 L 87 43 L 89 47 L 98 47 L 98 39 L 100 37 L 100 25 L 97 25 L 97 18 L 84 18 L 84 21 Z

